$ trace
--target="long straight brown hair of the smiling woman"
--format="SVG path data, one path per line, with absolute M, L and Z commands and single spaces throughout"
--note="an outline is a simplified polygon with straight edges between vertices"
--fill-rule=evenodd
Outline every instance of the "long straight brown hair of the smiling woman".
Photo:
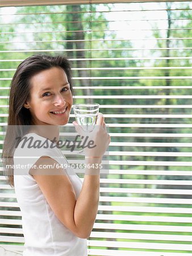
M 6 167 L 14 164 L 15 138 L 23 137 L 30 125 L 32 125 L 30 110 L 23 106 L 27 100 L 30 100 L 31 77 L 52 67 L 59 67 L 65 71 L 70 90 L 74 94 L 70 63 L 68 59 L 61 55 L 33 55 L 28 57 L 19 64 L 12 78 L 9 93 L 9 117 L 2 152 L 3 170 L 11 187 L 14 187 L 14 169 Z

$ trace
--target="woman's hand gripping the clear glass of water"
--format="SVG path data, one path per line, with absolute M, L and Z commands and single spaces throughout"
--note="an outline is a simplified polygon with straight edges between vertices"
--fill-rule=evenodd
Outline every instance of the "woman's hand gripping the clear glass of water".
M 78 134 L 84 136 L 82 143 L 87 138 L 89 147 L 84 148 L 86 158 L 102 158 L 107 150 L 107 147 L 110 143 L 110 135 L 106 130 L 106 123 L 102 113 L 98 113 L 97 122 L 93 131 L 86 132 L 82 130 L 81 126 L 78 125 L 76 121 L 73 122 L 73 125 L 76 128 Z M 93 141 L 90 143 L 90 141 Z

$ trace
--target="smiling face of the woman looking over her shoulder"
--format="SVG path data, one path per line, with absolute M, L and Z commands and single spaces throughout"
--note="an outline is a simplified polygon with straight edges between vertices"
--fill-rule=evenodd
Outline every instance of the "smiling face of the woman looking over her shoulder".
M 24 104 L 35 125 L 65 125 L 73 104 L 70 85 L 63 69 L 50 68 L 31 78 L 30 101 Z

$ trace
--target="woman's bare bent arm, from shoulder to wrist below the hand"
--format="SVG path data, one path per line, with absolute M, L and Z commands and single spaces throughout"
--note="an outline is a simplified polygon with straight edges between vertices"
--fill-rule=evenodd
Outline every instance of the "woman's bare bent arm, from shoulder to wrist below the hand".
M 100 159 L 88 159 L 86 163 L 99 163 Z M 40 164 L 54 165 L 52 158 L 42 157 L 36 162 Z M 37 169 L 36 169 L 37 170 Z M 34 171 L 36 171 L 34 170 Z M 78 199 L 73 185 L 67 175 L 62 175 L 63 170 L 52 170 L 57 175 L 38 175 L 31 170 L 37 184 L 43 192 L 49 206 L 59 220 L 77 237 L 88 238 L 95 222 L 99 203 L 99 170 L 97 175 L 85 175 L 82 189 Z M 50 169 L 43 170 L 45 173 Z M 94 171 L 89 169 L 89 172 Z

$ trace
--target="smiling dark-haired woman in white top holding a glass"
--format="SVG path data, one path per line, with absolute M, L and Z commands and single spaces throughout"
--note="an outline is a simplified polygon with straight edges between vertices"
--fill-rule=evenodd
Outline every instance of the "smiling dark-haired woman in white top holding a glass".
M 72 95 L 70 65 L 63 56 L 28 57 L 11 82 L 3 162 L 4 166 L 10 164 L 13 156 L 15 168 L 9 168 L 8 181 L 15 187 L 22 213 L 23 255 L 87 255 L 86 238 L 93 229 L 99 203 L 99 169 L 95 170 L 94 164 L 101 163 L 110 136 L 99 113 L 99 128 L 91 135 L 97 147 L 85 148 L 89 175 L 82 183 L 70 166 L 63 167 L 68 163 L 65 156 L 50 146 L 59 139 L 59 126 L 69 121 Z M 81 134 L 81 127 L 73 124 Z M 18 137 L 46 141 L 49 147 L 23 146 L 15 139 Z M 19 164 L 24 168 L 16 168 Z M 48 166 L 52 166 L 51 172 Z

